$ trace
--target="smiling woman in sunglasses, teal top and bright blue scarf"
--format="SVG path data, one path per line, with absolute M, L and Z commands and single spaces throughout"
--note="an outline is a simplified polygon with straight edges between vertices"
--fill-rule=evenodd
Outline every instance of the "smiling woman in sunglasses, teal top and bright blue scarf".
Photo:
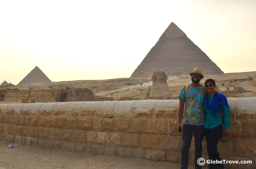
M 223 133 L 222 118 L 219 117 L 220 108 L 224 112 L 224 132 L 228 136 L 229 132 L 229 104 L 227 98 L 214 91 L 216 84 L 213 79 L 207 79 L 204 83 L 208 94 L 204 98 L 204 108 L 206 112 L 204 124 L 204 136 L 207 142 L 207 152 L 209 159 L 220 161 L 220 155 L 217 151 L 217 144 Z M 223 164 L 209 164 L 209 169 L 225 169 Z

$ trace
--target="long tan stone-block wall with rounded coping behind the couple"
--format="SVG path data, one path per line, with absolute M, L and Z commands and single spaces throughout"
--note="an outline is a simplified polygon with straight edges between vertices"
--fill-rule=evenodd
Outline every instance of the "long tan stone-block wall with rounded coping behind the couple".
M 218 144 L 221 158 L 252 160 L 252 164 L 226 166 L 255 169 L 256 98 L 229 98 L 228 102 L 232 138 Z M 0 139 L 74 152 L 180 162 L 178 106 L 179 100 L 0 104 Z M 192 164 L 193 142 L 189 151 Z M 208 157 L 205 141 L 203 157 Z

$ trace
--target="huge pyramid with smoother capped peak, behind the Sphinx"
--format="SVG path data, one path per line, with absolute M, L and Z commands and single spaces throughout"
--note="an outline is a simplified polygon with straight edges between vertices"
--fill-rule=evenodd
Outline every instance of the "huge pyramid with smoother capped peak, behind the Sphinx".
M 224 73 L 171 22 L 131 77 L 152 77 L 155 71 L 163 71 L 167 76 L 188 75 L 195 67 L 207 75 Z

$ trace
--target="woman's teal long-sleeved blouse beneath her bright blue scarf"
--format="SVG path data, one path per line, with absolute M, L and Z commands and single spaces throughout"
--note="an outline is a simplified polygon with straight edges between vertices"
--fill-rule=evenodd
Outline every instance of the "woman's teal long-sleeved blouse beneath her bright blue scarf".
M 207 96 L 204 97 L 204 101 L 206 99 L 206 97 L 208 97 L 209 99 L 209 104 L 211 104 L 212 102 L 212 98 L 211 96 L 209 96 L 209 94 Z M 206 115 L 205 115 L 205 124 L 204 124 L 204 128 L 207 128 L 207 129 L 212 129 L 212 128 L 215 128 L 217 127 L 218 125 L 221 125 L 222 124 L 222 118 L 220 118 L 220 116 L 212 116 L 211 115 L 211 111 L 214 111 L 214 110 L 211 110 L 211 109 L 208 109 L 205 104 L 204 104 L 204 108 L 205 108 L 205 112 L 206 112 Z M 227 106 L 224 106 L 224 105 L 221 105 L 221 108 L 222 108 L 222 111 L 224 112 L 224 128 L 225 129 L 229 129 L 229 124 L 230 124 L 230 109 L 229 107 Z M 221 114 L 220 111 L 217 112 L 217 114 Z

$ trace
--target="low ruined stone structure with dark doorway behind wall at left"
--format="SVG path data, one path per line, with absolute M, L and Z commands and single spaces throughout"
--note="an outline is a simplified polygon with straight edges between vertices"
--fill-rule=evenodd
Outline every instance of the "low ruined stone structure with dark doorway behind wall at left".
M 35 102 L 93 101 L 93 91 L 88 88 L 66 89 L 1 89 L 0 98 L 34 98 Z M 4 100 L 3 100 L 4 101 Z

